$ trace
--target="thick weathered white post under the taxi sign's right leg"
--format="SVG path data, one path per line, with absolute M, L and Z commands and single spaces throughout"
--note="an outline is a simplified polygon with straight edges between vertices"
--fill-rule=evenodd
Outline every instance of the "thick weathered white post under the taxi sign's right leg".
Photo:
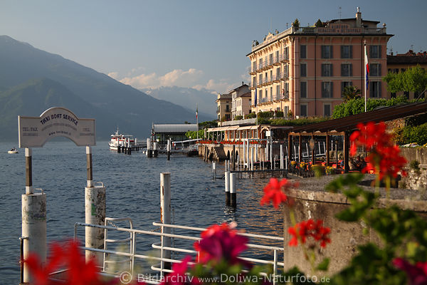
M 86 224 L 105 224 L 105 187 L 95 185 L 85 187 L 85 223 Z M 104 229 L 95 227 L 85 227 L 85 247 L 94 249 L 104 249 Z M 86 261 L 95 258 L 97 264 L 102 264 L 104 255 L 102 252 L 86 252 Z

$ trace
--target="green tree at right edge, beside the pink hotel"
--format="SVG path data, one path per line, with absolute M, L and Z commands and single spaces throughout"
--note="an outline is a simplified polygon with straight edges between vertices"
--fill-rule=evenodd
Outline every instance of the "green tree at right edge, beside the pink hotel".
M 421 97 L 427 89 L 427 72 L 417 65 L 401 73 L 389 72 L 383 81 L 387 83 L 387 90 L 391 93 L 406 91 Z

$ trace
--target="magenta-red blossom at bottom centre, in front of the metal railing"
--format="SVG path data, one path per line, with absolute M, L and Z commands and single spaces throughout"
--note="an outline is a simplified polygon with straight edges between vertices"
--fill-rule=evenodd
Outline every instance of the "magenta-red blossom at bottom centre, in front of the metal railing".
M 201 233 L 202 239 L 194 243 L 201 262 L 226 259 L 231 264 L 241 263 L 238 254 L 247 247 L 248 238 L 238 235 L 228 224 L 214 224 Z

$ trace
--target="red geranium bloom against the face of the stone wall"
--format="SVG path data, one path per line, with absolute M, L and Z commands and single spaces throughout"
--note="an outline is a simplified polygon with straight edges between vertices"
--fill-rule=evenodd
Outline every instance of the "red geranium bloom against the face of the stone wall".
M 289 246 L 296 247 L 298 241 L 305 244 L 307 238 L 312 237 L 316 242 L 320 242 L 320 247 L 326 247 L 326 244 L 331 242 L 328 237 L 331 230 L 328 227 L 323 227 L 322 224 L 323 221 L 321 219 L 318 219 L 316 222 L 312 219 L 308 219 L 307 221 L 295 224 L 295 227 L 289 227 L 288 232 L 292 235 Z

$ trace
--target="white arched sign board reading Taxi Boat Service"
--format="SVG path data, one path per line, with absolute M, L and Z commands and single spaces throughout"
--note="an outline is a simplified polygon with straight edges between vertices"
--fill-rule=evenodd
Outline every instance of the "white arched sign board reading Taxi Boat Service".
M 43 147 L 51 138 L 65 137 L 76 145 L 96 145 L 95 119 L 78 118 L 68 109 L 53 107 L 40 117 L 18 116 L 19 147 Z

